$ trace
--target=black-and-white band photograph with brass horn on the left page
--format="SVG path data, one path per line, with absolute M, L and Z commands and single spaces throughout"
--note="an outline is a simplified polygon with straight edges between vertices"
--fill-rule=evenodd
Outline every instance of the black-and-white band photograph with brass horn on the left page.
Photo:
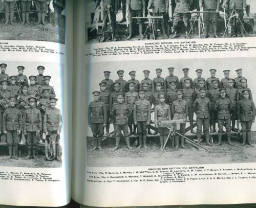
M 63 64 L 0 63 L 0 166 L 62 164 Z

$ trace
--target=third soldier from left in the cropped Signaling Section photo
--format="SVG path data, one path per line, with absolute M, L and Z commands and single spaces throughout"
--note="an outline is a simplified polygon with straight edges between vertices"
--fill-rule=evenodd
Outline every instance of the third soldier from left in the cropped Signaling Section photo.
M 148 1 L 147 10 L 153 8 L 153 16 L 162 16 L 162 19 L 153 19 L 154 28 L 158 29 L 158 24 L 161 24 L 163 36 L 165 39 L 168 38 L 167 28 L 166 28 L 166 15 L 169 10 L 169 1 L 168 0 L 150 0 Z M 156 22 L 157 21 L 157 22 Z

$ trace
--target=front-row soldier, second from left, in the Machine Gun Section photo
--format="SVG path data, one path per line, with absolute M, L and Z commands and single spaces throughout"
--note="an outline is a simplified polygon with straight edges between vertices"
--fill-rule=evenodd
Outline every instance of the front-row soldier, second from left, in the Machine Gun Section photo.
M 123 130 L 123 135 L 125 137 L 125 142 L 128 149 L 132 149 L 130 146 L 130 138 L 128 131 L 128 118 L 132 114 L 132 109 L 127 106 L 124 102 L 124 96 L 122 93 L 117 95 L 117 104 L 114 105 L 111 114 L 116 115 L 116 147 L 113 150 L 116 150 L 119 146 L 120 139 L 122 136 L 121 131 Z

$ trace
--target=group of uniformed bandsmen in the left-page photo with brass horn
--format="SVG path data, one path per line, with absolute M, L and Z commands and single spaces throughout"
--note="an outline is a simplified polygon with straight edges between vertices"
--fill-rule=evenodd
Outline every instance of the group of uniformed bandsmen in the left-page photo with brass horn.
M 0 134 L 6 140 L 9 159 L 17 159 L 17 143 L 25 135 L 28 155 L 26 159 L 36 158 L 38 137 L 60 134 L 62 118 L 60 110 L 55 108 L 57 98 L 49 85 L 51 76 L 44 76 L 44 66 L 38 66 L 38 75 L 23 74 L 25 67 L 18 66 L 18 75 L 5 73 L 7 64 L 1 63 L 0 74 Z M 56 159 L 60 160 L 59 143 L 56 141 Z

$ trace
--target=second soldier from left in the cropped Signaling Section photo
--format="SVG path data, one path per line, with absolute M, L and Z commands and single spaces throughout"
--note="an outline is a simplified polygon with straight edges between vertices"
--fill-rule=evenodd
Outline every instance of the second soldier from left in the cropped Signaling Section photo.
M 127 0 L 126 12 L 130 12 L 130 25 L 129 25 L 129 36 L 127 40 L 130 40 L 133 36 L 133 28 L 135 25 L 135 19 L 133 17 L 145 16 L 145 0 Z M 142 19 L 137 19 L 139 25 L 140 38 L 143 38 L 142 34 Z

